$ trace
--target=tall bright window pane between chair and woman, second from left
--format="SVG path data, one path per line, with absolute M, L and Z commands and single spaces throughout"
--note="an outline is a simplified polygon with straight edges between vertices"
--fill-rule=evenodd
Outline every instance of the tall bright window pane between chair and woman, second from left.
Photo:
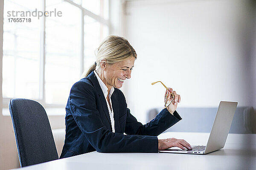
M 46 11 L 55 8 L 62 16 L 46 17 L 45 101 L 65 105 L 80 78 L 81 9 L 64 1 L 46 1 Z

